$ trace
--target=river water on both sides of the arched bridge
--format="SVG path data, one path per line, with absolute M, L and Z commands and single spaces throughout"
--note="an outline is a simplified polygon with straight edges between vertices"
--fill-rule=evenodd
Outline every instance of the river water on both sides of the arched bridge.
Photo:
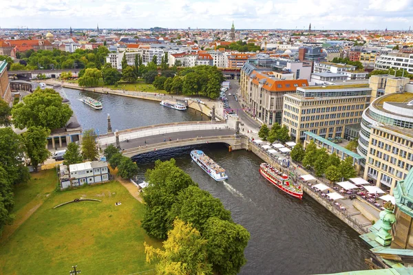
M 83 129 L 106 133 L 106 115 L 110 113 L 113 129 L 128 129 L 149 124 L 205 120 L 205 115 L 161 107 L 158 102 L 63 89 Z M 90 96 L 103 103 L 95 111 L 76 100 Z M 193 148 L 174 148 L 134 158 L 145 178 L 147 168 L 156 159 L 174 157 L 200 188 L 218 197 L 231 210 L 233 220 L 243 225 L 251 240 L 245 250 L 247 263 L 240 274 L 325 274 L 365 270 L 370 257 L 368 246 L 357 232 L 348 227 L 317 201 L 304 194 L 299 200 L 289 197 L 264 179 L 259 172 L 262 160 L 247 151 L 233 151 L 222 144 L 197 146 L 226 169 L 229 179 L 214 181 L 191 161 Z

